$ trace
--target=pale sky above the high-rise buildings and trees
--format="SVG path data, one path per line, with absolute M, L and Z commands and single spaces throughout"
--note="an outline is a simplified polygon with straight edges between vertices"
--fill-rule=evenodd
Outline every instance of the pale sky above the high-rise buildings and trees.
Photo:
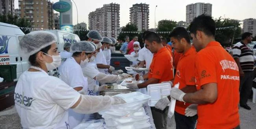
M 51 0 L 58 2 L 59 0 Z M 149 28 L 154 28 L 154 11 L 156 5 L 156 22 L 167 19 L 174 21 L 186 21 L 186 5 L 204 2 L 212 4 L 212 16 L 219 16 L 243 20 L 256 18 L 255 0 L 74 0 L 78 6 L 78 22 L 88 24 L 88 14 L 96 8 L 103 7 L 103 4 L 111 2 L 120 4 L 120 27 L 130 21 L 130 7 L 136 3 L 149 4 Z M 18 0 L 15 0 L 15 8 L 19 8 Z M 73 4 L 73 24 L 76 24 L 76 8 Z M 87 25 L 88 27 L 88 25 Z

